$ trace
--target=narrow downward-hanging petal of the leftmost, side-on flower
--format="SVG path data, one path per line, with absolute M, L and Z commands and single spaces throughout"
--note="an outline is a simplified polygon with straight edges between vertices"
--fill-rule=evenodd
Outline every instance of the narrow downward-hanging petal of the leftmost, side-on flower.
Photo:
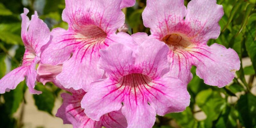
M 40 60 L 39 57 L 36 56 L 36 58 L 32 61 L 31 65 L 29 66 L 27 73 L 26 73 L 26 84 L 28 86 L 28 90 L 31 94 L 41 94 L 41 91 L 36 91 L 35 83 L 36 83 L 36 64 Z

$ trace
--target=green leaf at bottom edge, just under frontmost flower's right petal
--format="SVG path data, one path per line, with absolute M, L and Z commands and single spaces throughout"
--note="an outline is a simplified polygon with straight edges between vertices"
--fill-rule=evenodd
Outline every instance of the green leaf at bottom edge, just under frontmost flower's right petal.
M 180 113 L 170 113 L 165 115 L 166 117 L 171 117 L 176 120 L 176 122 L 182 128 L 196 128 L 197 121 L 193 116 L 193 113 L 189 107 L 186 108 L 185 111 Z

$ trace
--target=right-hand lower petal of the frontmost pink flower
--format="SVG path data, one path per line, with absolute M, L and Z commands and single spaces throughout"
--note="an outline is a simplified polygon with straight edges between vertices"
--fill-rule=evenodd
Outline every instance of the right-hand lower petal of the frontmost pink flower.
M 148 95 L 150 106 L 156 109 L 156 114 L 164 116 L 167 113 L 182 112 L 190 103 L 190 95 L 186 84 L 173 77 L 164 77 L 151 81 L 153 89 Z

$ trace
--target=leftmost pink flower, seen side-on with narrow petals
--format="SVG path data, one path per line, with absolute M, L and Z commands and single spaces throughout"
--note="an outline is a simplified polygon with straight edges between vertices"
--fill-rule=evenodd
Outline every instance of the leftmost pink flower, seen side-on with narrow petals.
M 42 93 L 34 89 L 36 64 L 40 60 L 41 47 L 50 40 L 50 30 L 43 20 L 38 18 L 36 11 L 30 21 L 27 14 L 28 9 L 24 8 L 24 13 L 21 14 L 21 38 L 26 51 L 22 66 L 15 68 L 0 80 L 0 93 L 4 93 L 6 89 L 15 89 L 25 77 L 30 93 Z

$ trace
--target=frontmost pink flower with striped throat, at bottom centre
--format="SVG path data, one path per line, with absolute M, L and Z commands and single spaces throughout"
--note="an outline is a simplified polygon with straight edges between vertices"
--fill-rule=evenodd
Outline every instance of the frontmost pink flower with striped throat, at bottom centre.
M 138 48 L 113 44 L 100 51 L 99 65 L 108 78 L 93 82 L 85 94 L 81 104 L 86 115 L 99 121 L 102 115 L 121 108 L 128 128 L 149 128 L 156 114 L 183 111 L 190 96 L 179 79 L 164 77 L 169 71 L 168 51 L 156 39 L 146 40 Z

